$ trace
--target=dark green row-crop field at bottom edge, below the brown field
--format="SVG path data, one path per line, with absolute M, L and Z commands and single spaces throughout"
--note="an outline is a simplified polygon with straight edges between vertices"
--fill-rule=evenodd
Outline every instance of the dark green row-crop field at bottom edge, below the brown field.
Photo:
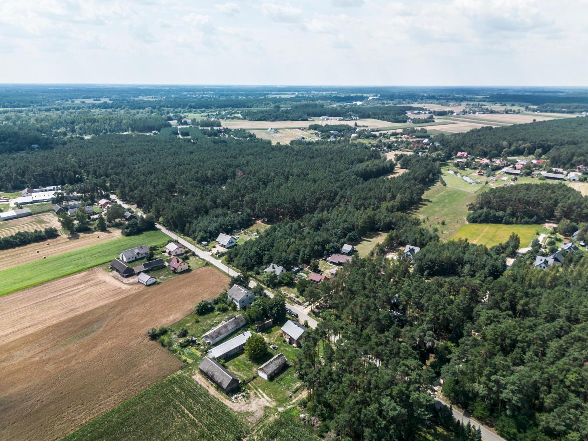
M 80 427 L 63 440 L 242 439 L 247 426 L 187 376 L 176 373 Z

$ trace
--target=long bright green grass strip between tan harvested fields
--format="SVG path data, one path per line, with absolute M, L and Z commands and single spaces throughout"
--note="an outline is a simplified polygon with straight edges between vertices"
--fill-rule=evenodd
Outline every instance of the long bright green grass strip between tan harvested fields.
M 118 257 L 119 253 L 125 249 L 143 244 L 159 245 L 165 243 L 167 238 L 168 236 L 159 230 L 147 231 L 141 235 L 112 239 L 108 242 L 5 269 L 0 271 L 0 280 L 2 280 L 0 296 L 102 265 L 102 263 Z

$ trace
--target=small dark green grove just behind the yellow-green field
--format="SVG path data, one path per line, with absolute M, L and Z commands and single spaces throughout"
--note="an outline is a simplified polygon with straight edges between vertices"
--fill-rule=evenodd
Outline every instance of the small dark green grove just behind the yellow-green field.
M 468 222 L 540 223 L 562 219 L 588 221 L 588 197 L 563 183 L 525 183 L 477 193 Z

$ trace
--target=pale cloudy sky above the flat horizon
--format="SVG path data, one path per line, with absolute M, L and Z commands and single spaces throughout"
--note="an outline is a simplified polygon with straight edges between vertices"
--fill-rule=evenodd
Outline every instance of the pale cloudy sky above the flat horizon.
M 588 85 L 588 0 L 0 0 L 1 83 Z

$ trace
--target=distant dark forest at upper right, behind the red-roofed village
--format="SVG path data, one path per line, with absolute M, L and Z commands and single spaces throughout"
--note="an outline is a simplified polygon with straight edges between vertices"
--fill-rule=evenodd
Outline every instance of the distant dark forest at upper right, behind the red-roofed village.
M 546 157 L 554 167 L 575 167 L 588 163 L 588 118 L 482 127 L 466 133 L 440 135 L 436 141 L 450 156 L 458 151 L 482 158 L 535 155 Z

